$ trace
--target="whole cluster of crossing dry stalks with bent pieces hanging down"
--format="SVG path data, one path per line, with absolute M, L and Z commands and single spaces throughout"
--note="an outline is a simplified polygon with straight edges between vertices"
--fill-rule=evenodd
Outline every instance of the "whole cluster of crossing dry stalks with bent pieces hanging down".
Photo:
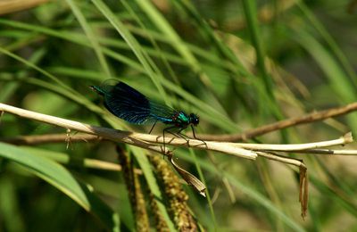
M 324 112 L 314 112 L 303 116 L 299 119 L 284 120 L 277 123 L 267 125 L 262 128 L 257 128 L 252 130 L 254 132 L 245 134 L 240 137 L 254 137 L 257 135 L 262 135 L 263 133 L 268 133 L 270 131 L 286 128 L 292 125 L 297 125 L 301 123 L 307 123 L 315 120 L 323 120 L 329 117 L 334 117 L 336 115 L 341 115 L 343 113 L 351 112 L 357 109 L 356 104 L 350 104 L 342 108 L 330 109 Z M 4 142 L 13 144 L 26 144 L 26 145 L 36 145 L 46 142 L 63 142 L 63 141 L 88 141 L 88 140 L 98 140 L 98 139 L 108 139 L 114 142 L 126 143 L 129 145 L 136 145 L 144 149 L 154 151 L 156 153 L 164 153 L 169 157 L 172 162 L 172 152 L 169 149 L 163 151 L 162 144 L 165 142 L 166 145 L 171 146 L 187 146 L 197 149 L 210 150 L 220 153 L 233 154 L 238 157 L 245 159 L 255 160 L 257 156 L 261 156 L 270 160 L 284 162 L 286 164 L 291 164 L 299 167 L 300 169 L 300 195 L 299 200 L 302 204 L 302 216 L 306 216 L 307 211 L 307 200 L 308 200 L 308 180 L 307 180 L 307 169 L 302 161 L 293 159 L 290 157 L 285 157 L 278 155 L 275 152 L 285 152 L 285 153 L 316 153 L 316 154 L 357 154 L 356 150 L 330 150 L 326 147 L 334 145 L 345 145 L 353 142 L 353 137 L 351 133 L 345 134 L 345 136 L 328 141 L 321 141 L 316 143 L 307 144 L 295 144 L 295 145 L 269 145 L 269 144 L 245 144 L 245 143 L 229 143 L 229 142 L 217 142 L 217 141 L 201 141 L 196 139 L 182 139 L 179 137 L 165 137 L 163 141 L 162 136 L 154 136 L 148 134 L 141 134 L 129 131 L 122 131 L 112 128 L 101 128 L 85 123 L 80 123 L 74 120 L 65 120 L 62 118 L 23 110 L 21 108 L 13 107 L 7 104 L 0 104 L 1 115 L 4 112 L 10 112 L 14 115 L 18 115 L 29 120 L 38 120 L 45 122 L 47 124 L 52 124 L 54 126 L 66 128 L 65 135 L 46 135 L 46 136 L 31 136 L 31 137 L 14 137 L 2 139 Z M 0 119 L 1 120 L 1 119 Z M 77 135 L 71 136 L 69 139 L 69 131 L 75 130 L 88 135 Z M 221 139 L 222 137 L 220 137 Z M 237 137 L 229 137 L 228 140 L 237 140 Z M 202 182 L 195 178 L 193 175 L 188 173 L 186 170 L 179 168 L 174 162 L 172 163 L 176 170 L 181 170 L 180 174 L 187 180 L 187 183 L 195 186 L 200 194 L 204 195 L 205 186 Z M 187 178 L 188 177 L 188 178 Z

